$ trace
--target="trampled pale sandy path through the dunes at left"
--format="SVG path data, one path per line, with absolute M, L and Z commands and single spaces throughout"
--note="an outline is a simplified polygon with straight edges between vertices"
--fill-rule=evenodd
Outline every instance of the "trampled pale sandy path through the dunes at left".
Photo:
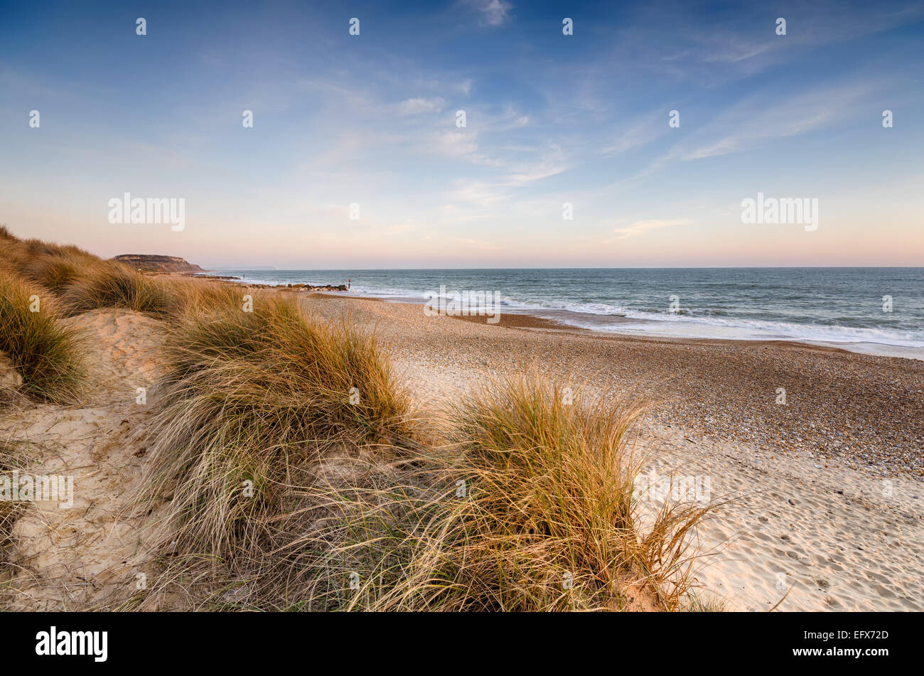
M 72 321 L 88 337 L 83 404 L 30 404 L 0 416 L 0 435 L 28 442 L 42 459 L 26 471 L 73 477 L 72 507 L 37 501 L 16 523 L 16 574 L 0 587 L 9 610 L 88 610 L 127 600 L 145 570 L 139 524 L 122 512 L 143 465 L 131 437 L 150 406 L 136 404 L 136 388 L 152 385 L 159 324 L 125 310 Z

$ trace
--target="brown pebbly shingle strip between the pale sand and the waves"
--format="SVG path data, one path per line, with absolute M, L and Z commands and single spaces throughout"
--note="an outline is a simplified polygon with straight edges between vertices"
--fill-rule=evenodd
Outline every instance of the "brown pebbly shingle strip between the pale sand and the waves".
M 433 396 L 436 374 L 453 374 L 458 384 L 467 368 L 535 364 L 604 395 L 657 402 L 654 419 L 703 438 L 924 477 L 924 362 L 917 359 L 790 341 L 579 331 L 528 315 L 491 325 L 483 317 L 426 317 L 407 303 L 300 296 L 312 311 L 349 315 L 380 332 L 418 372 L 429 369 L 416 378 L 431 383 Z M 785 404 L 776 403 L 780 388 Z

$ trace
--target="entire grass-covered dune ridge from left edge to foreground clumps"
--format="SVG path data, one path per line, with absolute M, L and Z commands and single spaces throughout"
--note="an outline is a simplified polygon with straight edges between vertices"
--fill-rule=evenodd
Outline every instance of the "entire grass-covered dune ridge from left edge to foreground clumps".
M 50 397 L 79 382 L 65 314 L 164 322 L 156 413 L 137 430 L 150 460 L 129 506 L 151 514 L 161 573 L 125 608 L 682 605 L 706 510 L 665 503 L 641 517 L 638 406 L 565 403 L 528 375 L 419 411 L 374 334 L 310 317 L 297 296 L 244 304 L 229 284 L 142 275 L 5 228 L 0 239 L 0 308 L 13 318 L 0 348 L 23 387 Z M 16 323 L 34 323 L 30 285 L 51 301 L 31 333 Z

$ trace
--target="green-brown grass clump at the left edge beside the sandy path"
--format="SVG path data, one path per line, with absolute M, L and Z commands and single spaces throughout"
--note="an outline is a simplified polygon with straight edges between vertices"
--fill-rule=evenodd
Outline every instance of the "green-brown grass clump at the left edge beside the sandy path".
M 22 377 L 21 392 L 56 403 L 76 398 L 83 377 L 78 333 L 50 294 L 7 272 L 0 272 L 0 350 Z

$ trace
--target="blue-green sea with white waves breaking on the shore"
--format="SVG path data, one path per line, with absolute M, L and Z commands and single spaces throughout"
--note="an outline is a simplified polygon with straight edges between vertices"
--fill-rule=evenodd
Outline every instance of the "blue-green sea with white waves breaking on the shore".
M 501 314 L 597 332 L 783 340 L 924 359 L 924 268 L 221 270 L 251 284 L 350 284 L 424 303 L 484 292 Z

